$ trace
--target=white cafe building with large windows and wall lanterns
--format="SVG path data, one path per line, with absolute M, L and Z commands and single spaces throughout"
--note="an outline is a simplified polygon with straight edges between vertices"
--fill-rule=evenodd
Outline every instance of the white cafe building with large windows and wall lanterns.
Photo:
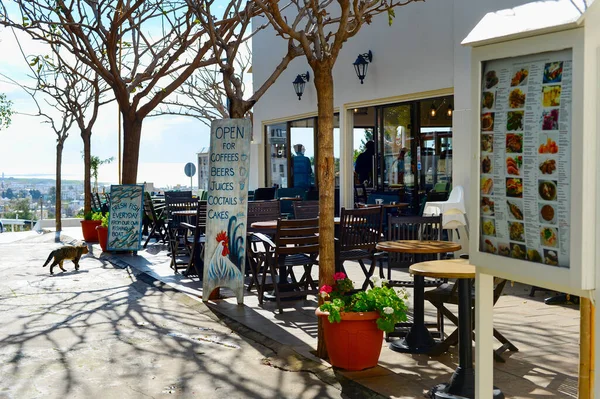
M 436 183 L 461 185 L 469 192 L 469 159 L 474 151 L 471 49 L 461 41 L 487 12 L 528 2 L 416 2 L 396 9 L 392 26 L 387 14 L 379 15 L 344 44 L 334 69 L 334 153 L 339 157 L 342 206 L 353 206 L 353 154 L 365 131 L 377 144 L 377 172 L 369 184 L 373 188 L 404 192 L 402 199 L 412 202 L 414 209 Z M 253 39 L 255 88 L 279 63 L 286 45 L 269 29 Z M 372 62 L 361 84 L 353 63 L 369 51 Z M 303 57 L 294 60 L 254 107 L 254 134 L 260 132 L 262 142 L 253 146 L 252 170 L 258 172 L 251 175 L 251 188 L 281 185 L 282 179 L 291 186 L 287 162 L 291 147 L 303 144 L 308 157 L 318 150 L 313 80 L 306 84 L 301 101 L 292 86 L 296 76 L 307 71 Z M 275 137 L 273 131 L 284 137 Z M 282 151 L 285 156 L 280 156 Z

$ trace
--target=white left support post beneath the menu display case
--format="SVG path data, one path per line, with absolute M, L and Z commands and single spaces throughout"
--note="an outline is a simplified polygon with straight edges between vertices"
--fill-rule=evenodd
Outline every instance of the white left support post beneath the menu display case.
M 494 357 L 494 276 L 475 276 L 475 397 L 492 399 Z

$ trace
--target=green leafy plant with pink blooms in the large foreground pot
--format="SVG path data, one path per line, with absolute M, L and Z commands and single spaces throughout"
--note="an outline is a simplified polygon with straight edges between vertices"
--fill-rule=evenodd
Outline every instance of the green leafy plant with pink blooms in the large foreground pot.
M 374 287 L 367 291 L 351 292 L 354 284 L 345 273 L 333 275 L 333 286 L 323 285 L 319 295 L 325 300 L 319 309 L 328 312 L 330 323 L 339 323 L 342 312 L 379 312 L 377 327 L 386 332 L 394 331 L 394 325 L 406 321 L 406 304 L 408 298 L 405 290 L 394 290 L 387 286 L 387 281 L 371 277 Z

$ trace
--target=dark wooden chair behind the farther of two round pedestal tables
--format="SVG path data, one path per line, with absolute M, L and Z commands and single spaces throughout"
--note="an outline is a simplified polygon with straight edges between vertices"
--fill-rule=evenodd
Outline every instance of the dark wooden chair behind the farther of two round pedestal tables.
M 438 216 L 392 216 L 388 218 L 387 237 L 388 241 L 397 240 L 442 240 L 442 217 Z M 414 287 L 414 280 L 392 280 L 392 269 L 408 269 L 410 265 L 417 262 L 439 259 L 439 255 L 389 253 L 387 254 L 387 279 L 394 287 Z M 379 264 L 379 274 L 384 276 L 383 262 Z M 425 279 L 425 287 L 437 287 L 442 284 L 441 280 Z

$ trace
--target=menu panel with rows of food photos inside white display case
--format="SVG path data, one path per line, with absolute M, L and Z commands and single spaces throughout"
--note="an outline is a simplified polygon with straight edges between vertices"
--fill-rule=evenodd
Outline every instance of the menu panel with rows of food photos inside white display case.
M 571 50 L 487 61 L 480 250 L 569 267 Z

